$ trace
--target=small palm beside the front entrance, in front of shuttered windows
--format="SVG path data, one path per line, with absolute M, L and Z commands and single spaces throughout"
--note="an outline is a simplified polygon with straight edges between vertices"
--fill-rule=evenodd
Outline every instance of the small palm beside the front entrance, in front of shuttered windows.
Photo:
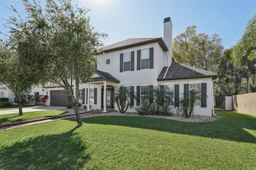
M 135 99 L 135 94 L 131 91 L 130 87 L 121 86 L 115 88 L 114 101 L 120 113 L 125 113 L 128 107 L 130 107 L 130 109 L 133 108 L 131 99 Z

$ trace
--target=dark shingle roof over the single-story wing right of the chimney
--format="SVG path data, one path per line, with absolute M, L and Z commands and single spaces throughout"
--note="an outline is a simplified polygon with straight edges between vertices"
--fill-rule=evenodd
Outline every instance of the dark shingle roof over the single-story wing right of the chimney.
M 180 64 L 175 61 L 172 61 L 167 73 L 168 67 L 164 67 L 161 73 L 158 76 L 159 80 L 177 80 L 177 79 L 194 79 L 194 78 L 204 78 L 204 77 L 213 77 L 216 78 L 219 75 L 212 73 L 210 71 L 205 71 L 203 69 L 198 69 L 188 65 Z M 166 73 L 166 76 L 164 77 Z

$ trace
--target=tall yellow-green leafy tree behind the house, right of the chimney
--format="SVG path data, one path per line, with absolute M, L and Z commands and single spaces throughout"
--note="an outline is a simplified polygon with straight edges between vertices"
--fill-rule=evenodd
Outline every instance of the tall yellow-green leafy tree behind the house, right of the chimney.
M 215 72 L 223 53 L 222 39 L 218 34 L 196 34 L 196 26 L 188 26 L 186 31 L 173 40 L 172 55 L 175 61 Z

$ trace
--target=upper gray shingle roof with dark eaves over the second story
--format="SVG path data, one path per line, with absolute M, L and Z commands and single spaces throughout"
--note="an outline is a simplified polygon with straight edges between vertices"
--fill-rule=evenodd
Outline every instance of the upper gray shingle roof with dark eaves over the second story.
M 129 38 L 127 40 L 102 47 L 102 51 L 104 53 L 107 53 L 111 51 L 117 51 L 120 49 L 136 47 L 138 45 L 146 45 L 148 43 L 154 43 L 154 42 L 158 42 L 164 51 L 168 51 L 168 47 L 166 46 L 162 38 Z

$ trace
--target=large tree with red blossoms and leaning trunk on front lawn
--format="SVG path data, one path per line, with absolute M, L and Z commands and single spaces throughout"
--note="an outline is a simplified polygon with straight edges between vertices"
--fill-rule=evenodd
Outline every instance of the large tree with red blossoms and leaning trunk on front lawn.
M 16 45 L 20 49 L 21 65 L 35 65 L 41 78 L 62 86 L 76 113 L 78 126 L 82 120 L 78 110 L 79 84 L 89 80 L 94 73 L 95 56 L 100 52 L 100 38 L 106 34 L 94 32 L 86 8 L 78 8 L 71 0 L 46 0 L 43 9 L 33 1 L 22 0 L 25 5 L 26 20 L 10 22 L 20 29 L 22 37 Z M 12 7 L 16 12 L 16 9 Z M 17 32 L 17 31 L 16 31 Z M 74 87 L 73 87 L 74 85 Z M 74 89 L 77 89 L 74 93 Z

